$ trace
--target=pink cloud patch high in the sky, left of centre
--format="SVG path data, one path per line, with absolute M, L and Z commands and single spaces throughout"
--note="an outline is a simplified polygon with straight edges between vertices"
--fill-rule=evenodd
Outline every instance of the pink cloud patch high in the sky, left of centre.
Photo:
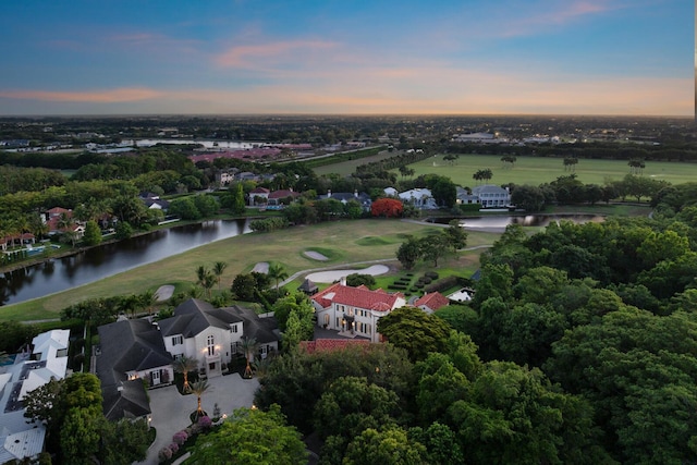
M 320 40 L 291 40 L 260 45 L 232 47 L 216 58 L 216 62 L 227 68 L 249 68 L 259 59 L 289 60 L 289 54 L 327 50 L 334 47 L 332 42 Z

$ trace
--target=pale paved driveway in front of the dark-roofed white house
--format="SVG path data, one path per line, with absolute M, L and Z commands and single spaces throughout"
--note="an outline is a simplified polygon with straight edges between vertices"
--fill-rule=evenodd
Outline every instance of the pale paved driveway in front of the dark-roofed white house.
M 213 406 L 218 403 L 221 414 L 230 415 L 235 408 L 250 407 L 254 402 L 254 393 L 259 387 L 255 379 L 242 379 L 239 374 L 210 378 L 208 391 L 201 396 L 201 406 L 208 415 L 212 416 Z M 148 456 L 142 464 L 156 465 L 159 463 L 158 452 L 172 443 L 172 436 L 176 431 L 186 428 L 191 420 L 188 415 L 196 409 L 196 395 L 182 395 L 175 386 L 152 389 L 148 391 L 150 396 L 150 409 L 157 437 L 148 449 Z

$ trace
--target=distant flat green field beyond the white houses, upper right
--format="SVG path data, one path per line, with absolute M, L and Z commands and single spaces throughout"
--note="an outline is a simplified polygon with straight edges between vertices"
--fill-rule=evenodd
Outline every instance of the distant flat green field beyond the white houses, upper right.
M 325 167 L 331 168 L 331 167 Z M 461 155 L 456 164 L 443 160 L 437 155 L 427 160 L 409 164 L 415 176 L 421 174 L 440 174 L 450 178 L 455 184 L 474 187 L 477 184 L 472 175 L 486 168 L 493 172 L 492 184 L 508 183 L 539 185 L 552 182 L 557 178 L 570 174 L 564 171 L 562 158 L 517 157 L 515 168 L 504 169 L 501 157 L 494 155 Z M 394 170 L 396 173 L 396 170 Z M 604 184 L 607 179 L 619 181 L 629 173 L 626 160 L 588 160 L 579 159 L 575 174 L 584 184 Z M 644 176 L 664 180 L 671 184 L 694 182 L 697 179 L 697 163 L 668 161 L 647 161 Z M 398 173 L 398 176 L 399 173 Z

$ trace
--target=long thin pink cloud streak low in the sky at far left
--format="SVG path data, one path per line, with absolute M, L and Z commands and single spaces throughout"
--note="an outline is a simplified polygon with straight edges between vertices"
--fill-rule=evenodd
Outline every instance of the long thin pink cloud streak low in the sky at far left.
M 120 88 L 96 91 L 0 90 L 0 97 L 11 99 L 114 103 L 150 100 L 163 93 L 148 88 Z

